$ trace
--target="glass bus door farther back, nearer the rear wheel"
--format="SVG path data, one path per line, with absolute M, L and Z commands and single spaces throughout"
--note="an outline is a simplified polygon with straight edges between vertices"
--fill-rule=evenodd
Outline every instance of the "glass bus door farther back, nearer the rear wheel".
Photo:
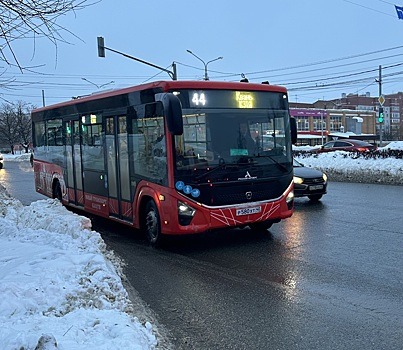
M 64 122 L 66 131 L 65 154 L 67 191 L 69 203 L 84 205 L 83 177 L 81 170 L 81 149 L 80 149 L 80 123 L 78 120 Z

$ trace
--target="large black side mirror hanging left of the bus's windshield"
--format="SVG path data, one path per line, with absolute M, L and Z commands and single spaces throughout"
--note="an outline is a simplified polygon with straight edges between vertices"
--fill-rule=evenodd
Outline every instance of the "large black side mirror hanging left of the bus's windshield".
M 167 126 L 173 135 L 183 134 L 182 105 L 179 98 L 171 93 L 162 93 L 155 95 L 156 101 L 161 101 L 164 106 Z

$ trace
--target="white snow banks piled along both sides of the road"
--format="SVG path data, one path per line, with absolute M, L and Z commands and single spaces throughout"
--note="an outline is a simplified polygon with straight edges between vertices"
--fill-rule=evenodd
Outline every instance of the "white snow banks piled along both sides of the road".
M 403 142 L 387 147 L 403 150 Z M 402 159 L 345 152 L 298 159 L 330 172 L 403 178 Z M 134 315 L 121 267 L 89 219 L 51 199 L 23 206 L 0 184 L 1 349 L 154 349 L 155 326 Z

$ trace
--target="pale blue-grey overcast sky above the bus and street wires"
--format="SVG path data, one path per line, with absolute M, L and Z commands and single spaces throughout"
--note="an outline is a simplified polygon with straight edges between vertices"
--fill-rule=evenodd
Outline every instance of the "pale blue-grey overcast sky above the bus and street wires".
M 164 72 L 113 52 L 97 56 L 97 36 L 105 46 L 171 69 L 179 79 L 268 80 L 285 85 L 292 102 L 338 98 L 342 93 L 378 96 L 382 65 L 384 94 L 403 91 L 403 20 L 395 3 L 383 0 L 101 0 L 61 18 L 70 44 L 16 42 L 20 64 L 37 73 L 1 65 L 16 77 L 15 89 L 0 98 L 42 106 L 103 89 L 170 79 Z M 403 6 L 402 3 L 396 5 Z M 365 73 L 366 72 L 366 73 Z M 30 83 L 30 84 L 28 84 Z

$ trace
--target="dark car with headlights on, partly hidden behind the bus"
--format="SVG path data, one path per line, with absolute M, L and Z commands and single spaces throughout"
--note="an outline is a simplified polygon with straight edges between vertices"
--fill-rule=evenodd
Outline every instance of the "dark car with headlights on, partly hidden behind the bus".
M 294 159 L 294 195 L 317 202 L 327 191 L 327 175 Z

